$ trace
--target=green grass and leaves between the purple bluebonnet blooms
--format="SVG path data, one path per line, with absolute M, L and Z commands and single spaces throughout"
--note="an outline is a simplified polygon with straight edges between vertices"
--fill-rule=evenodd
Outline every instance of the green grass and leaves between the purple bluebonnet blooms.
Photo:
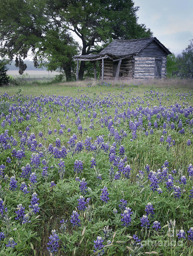
M 124 84 L 124 88 L 120 87 L 121 84 Z M 182 108 L 192 106 L 193 99 L 191 94 L 193 90 L 189 84 L 183 88 L 180 86 L 180 82 L 173 85 L 168 82 L 168 84 L 164 85 L 164 82 L 162 82 L 162 85 L 158 86 L 159 82 L 158 84 L 154 82 L 146 84 L 145 82 L 140 82 L 137 85 L 137 82 L 126 84 L 124 81 L 111 82 L 111 86 L 105 86 L 104 84 L 102 86 L 100 82 L 81 81 L 59 84 L 45 83 L 41 85 L 33 83 L 25 87 L 3 87 L 0 88 L 0 113 L 4 111 L 7 112 L 6 115 L 8 114 L 6 102 L 8 102 L 8 104 L 15 104 L 15 106 L 18 107 L 18 111 L 20 108 L 26 108 L 27 104 L 30 104 L 31 107 L 38 109 L 42 118 L 41 122 L 37 122 L 37 115 L 31 113 L 29 121 L 25 120 L 21 123 L 16 121 L 16 123 L 12 123 L 10 126 L 7 123 L 5 127 L 0 127 L 0 134 L 8 129 L 9 136 L 12 135 L 18 141 L 18 145 L 14 146 L 16 149 L 20 148 L 20 137 L 18 132 L 20 130 L 24 132 L 27 126 L 30 127 L 30 130 L 27 132 L 27 137 L 31 133 L 34 133 L 37 143 L 42 143 L 44 148 L 47 148 L 50 143 L 55 145 L 57 137 L 60 138 L 61 144 L 68 148 L 67 142 L 73 133 L 76 133 L 77 135 L 76 143 L 81 140 L 84 142 L 86 136 L 92 137 L 92 143 L 94 143 L 97 136 L 104 135 L 104 141 L 109 141 L 111 146 L 114 139 L 109 139 L 109 130 L 105 125 L 104 127 L 101 127 L 99 119 L 111 115 L 112 120 L 114 120 L 115 108 L 118 113 L 123 113 L 124 109 L 127 113 L 128 108 L 131 111 L 132 109 L 139 109 L 140 106 L 142 106 L 142 108 L 153 108 L 154 106 L 160 105 L 160 97 L 162 97 L 162 106 L 166 108 L 169 108 L 169 106 L 174 105 L 176 102 L 181 104 Z M 159 92 L 159 100 L 156 96 L 154 96 L 152 100 L 150 90 Z M 14 102 L 12 101 L 12 98 L 7 97 L 6 95 L 3 96 L 5 93 L 13 96 Z M 161 96 L 160 93 L 163 93 L 163 95 Z M 179 94 L 181 93 L 187 93 L 187 95 L 180 96 Z M 74 102 L 73 105 L 71 105 L 72 102 L 69 101 L 69 106 L 64 106 L 65 101 L 62 102 L 62 99 L 60 99 L 60 101 L 63 106 L 56 105 L 53 101 L 43 104 L 43 101 L 38 99 L 37 102 L 33 100 L 29 103 L 30 96 L 28 100 L 26 95 L 32 95 L 32 99 L 39 95 L 47 95 L 52 98 L 54 98 L 54 95 L 71 96 L 74 100 L 77 98 L 78 100 L 80 99 L 80 101 L 85 101 L 84 104 L 86 109 L 79 109 L 79 101 L 78 103 Z M 86 96 L 84 97 L 84 95 Z M 144 95 L 149 98 L 144 98 Z M 102 101 L 103 99 L 107 99 L 107 97 L 110 99 L 110 102 L 108 104 L 103 104 L 102 108 L 98 108 L 97 102 L 99 102 L 99 98 Z M 89 128 L 93 109 L 88 108 L 86 105 L 87 101 L 92 101 L 92 104 L 96 103 L 96 105 L 94 105 L 94 110 L 97 112 L 97 118 L 94 119 L 94 129 Z M 130 107 L 128 102 L 131 102 Z M 107 105 L 109 105 L 110 108 Z M 53 111 L 51 111 L 51 108 Z M 101 109 L 104 114 L 101 114 Z M 77 115 L 75 115 L 75 112 L 77 112 Z M 88 117 L 89 113 L 91 113 L 90 118 Z M 16 112 L 14 115 L 18 116 Z M 22 112 L 20 112 L 20 115 L 22 115 Z M 66 118 L 67 115 L 69 116 L 68 119 Z M 77 126 L 75 125 L 75 120 L 78 115 L 81 119 L 82 127 L 87 128 L 82 134 L 79 133 Z M 48 119 L 49 116 L 51 119 Z M 60 119 L 60 123 L 57 122 L 57 118 Z M 8 175 L 7 181 L 1 179 L 2 190 L 3 192 L 6 192 L 5 196 L 2 198 L 5 206 L 8 208 L 9 216 L 12 217 L 12 228 L 15 228 L 16 230 L 10 229 L 5 240 L 0 241 L 1 255 L 49 255 L 46 247 L 51 230 L 54 229 L 57 230 L 57 234 L 60 238 L 60 246 L 58 254 L 56 253 L 56 255 L 97 255 L 98 252 L 93 252 L 94 240 L 96 240 L 97 236 L 104 237 L 103 229 L 107 225 L 109 225 L 109 229 L 112 228 L 112 236 L 109 237 L 109 240 L 111 240 L 109 245 L 107 245 L 107 241 L 104 240 L 103 242 L 105 245 L 105 255 L 141 255 L 140 253 L 143 253 L 143 255 L 192 255 L 193 242 L 187 239 L 187 230 L 193 226 L 193 199 L 189 199 L 190 189 L 192 189 L 193 182 L 188 177 L 187 167 L 192 163 L 193 154 L 192 144 L 190 146 L 187 146 L 186 144 L 188 139 L 193 143 L 192 127 L 190 127 L 191 129 L 188 129 L 188 124 L 186 122 L 187 118 L 184 117 L 183 114 L 179 115 L 179 119 L 182 119 L 183 127 L 185 129 L 184 134 L 179 134 L 180 129 L 177 127 L 178 121 L 173 121 L 175 129 L 172 130 L 169 127 L 171 121 L 167 122 L 166 118 L 162 116 L 158 121 L 158 128 L 154 129 L 152 135 L 146 136 L 145 131 L 148 129 L 148 120 L 143 116 L 143 127 L 145 128 L 145 131 L 143 131 L 143 127 L 138 129 L 137 139 L 131 141 L 132 132 L 129 128 L 130 119 L 124 121 L 121 117 L 119 118 L 120 125 L 117 123 L 114 124 L 114 126 L 116 126 L 115 128 L 119 132 L 120 129 L 127 132 L 127 137 L 122 139 L 121 144 L 125 147 L 127 164 L 130 164 L 132 168 L 131 178 L 125 180 L 124 177 L 121 176 L 120 180 L 111 182 L 109 180 L 109 169 L 111 167 L 111 164 L 109 163 L 109 154 L 105 154 L 104 151 L 100 149 L 97 151 L 97 154 L 83 149 L 80 153 L 72 154 L 72 152 L 68 152 L 67 157 L 63 159 L 65 162 L 65 176 L 63 180 L 60 180 L 58 169 L 56 167 L 59 163 L 59 159 L 54 158 L 52 154 L 47 155 L 46 151 L 44 151 L 44 158 L 47 161 L 49 160 L 48 166 L 50 167 L 53 165 L 54 167 L 53 169 L 48 169 L 49 175 L 47 181 L 41 176 L 42 164 L 40 165 L 40 168 L 33 169 L 37 175 L 38 182 L 35 191 L 38 194 L 40 211 L 39 215 L 35 214 L 31 216 L 31 223 L 24 225 L 20 225 L 19 221 L 14 218 L 16 217 L 15 210 L 19 203 L 22 203 L 25 207 L 25 212 L 29 210 L 28 205 L 30 205 L 31 194 L 24 195 L 24 193 L 20 191 L 21 183 L 25 181 L 28 185 L 29 179 L 22 178 L 20 175 L 22 166 L 30 163 L 32 152 L 27 149 L 26 144 L 26 157 L 22 158 L 21 162 L 13 157 L 12 163 L 8 164 L 6 159 L 8 156 L 11 157 L 12 149 L 2 150 L 0 154 L 0 164 L 6 165 L 4 174 Z M 193 115 L 191 113 L 188 116 L 188 119 L 192 118 Z M 2 115 L 0 123 L 2 123 L 4 119 L 5 117 Z M 10 117 L 10 119 L 12 119 L 12 117 Z M 72 119 L 72 121 L 70 121 L 70 119 Z M 131 119 L 133 121 L 135 120 L 134 117 L 131 117 Z M 153 115 L 151 119 L 152 128 L 155 120 L 156 115 Z M 171 135 L 172 139 L 175 139 L 175 145 L 170 148 L 167 148 L 167 135 L 165 141 L 163 143 L 160 142 L 160 137 L 163 131 L 160 125 L 162 126 L 164 121 L 167 122 L 167 135 Z M 65 124 L 66 126 L 62 135 L 58 134 L 61 129 L 60 124 Z M 52 131 L 57 129 L 57 133 L 52 132 L 51 135 L 48 135 L 48 128 Z M 67 132 L 67 128 L 70 128 L 71 131 Z M 43 133 L 42 138 L 38 136 L 39 131 L 42 131 Z M 119 155 L 118 148 L 119 145 L 117 145 L 116 148 L 117 155 Z M 90 160 L 93 156 L 97 163 L 96 169 L 90 168 Z M 83 174 L 74 173 L 73 169 L 76 159 L 83 161 Z M 182 194 L 180 199 L 174 199 L 172 191 L 169 193 L 166 191 L 164 182 L 160 184 L 163 191 L 163 193 L 160 194 L 158 194 L 157 191 L 153 192 L 150 190 L 149 180 L 145 183 L 144 188 L 137 185 L 136 174 L 139 173 L 139 170 L 144 170 L 146 164 L 149 164 L 150 170 L 156 171 L 161 168 L 165 160 L 169 162 L 169 173 L 171 173 L 171 170 L 173 169 L 177 170 L 177 174 L 173 175 L 175 180 L 180 179 L 182 174 L 187 177 L 187 185 L 185 186 L 186 191 Z M 117 170 L 118 168 L 114 166 L 115 173 Z M 102 174 L 102 180 L 97 180 L 96 172 Z M 15 173 L 16 180 L 18 181 L 16 191 L 11 191 L 9 189 L 9 181 L 13 173 Z M 81 195 L 79 182 L 75 180 L 75 177 L 77 176 L 79 176 L 80 179 L 84 177 L 90 188 L 88 193 L 84 196 L 85 198 L 91 197 L 89 205 L 92 210 L 92 220 L 90 222 L 86 219 L 85 212 L 77 209 L 77 199 Z M 50 188 L 50 181 L 52 180 L 56 183 L 56 186 Z M 147 174 L 145 173 L 143 182 L 146 180 Z M 179 183 L 175 181 L 175 184 L 178 185 Z M 107 203 L 103 203 L 100 200 L 101 188 L 104 186 L 107 186 L 109 192 L 110 199 Z M 182 185 L 180 186 L 182 187 Z M 121 225 L 122 217 L 118 206 L 120 204 L 120 199 L 126 199 L 128 201 L 128 207 L 132 208 L 132 221 L 128 228 Z M 140 226 L 140 218 L 145 214 L 145 206 L 148 202 L 153 204 L 155 214 L 154 218 L 150 218 L 150 229 L 145 231 L 145 229 Z M 114 208 L 118 210 L 118 213 L 113 213 Z M 80 227 L 72 227 L 70 223 L 72 211 L 75 209 L 80 214 Z M 62 218 L 68 220 L 67 229 L 64 234 L 60 231 L 60 220 Z M 169 229 L 168 222 L 174 219 L 176 224 L 174 230 L 172 230 L 172 228 Z M 161 229 L 158 232 L 152 229 L 154 220 L 158 220 L 161 223 Z M 2 222 L 1 219 L 0 225 L 3 229 L 6 228 L 5 222 Z M 177 232 L 180 229 L 186 231 L 186 240 L 178 240 Z M 138 251 L 139 254 L 133 254 L 134 252 L 131 249 L 133 241 L 131 237 L 133 234 L 137 234 L 143 244 L 143 248 Z M 14 249 L 5 247 L 5 244 L 8 243 L 11 236 L 14 238 L 14 241 L 18 243 Z

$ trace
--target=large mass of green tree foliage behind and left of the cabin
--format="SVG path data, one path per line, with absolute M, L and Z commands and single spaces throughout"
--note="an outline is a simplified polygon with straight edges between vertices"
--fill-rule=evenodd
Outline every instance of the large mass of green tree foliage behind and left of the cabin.
M 98 42 L 152 35 L 144 24 L 137 23 L 139 7 L 134 7 L 132 0 L 2 0 L 0 9 L 1 56 L 12 60 L 16 55 L 15 65 L 20 74 L 27 68 L 23 59 L 31 49 L 35 67 L 44 66 L 50 71 L 59 68 L 66 80 L 75 78 L 76 63 L 72 56 L 80 49 L 71 31 L 82 40 L 82 54 L 100 52 Z M 80 79 L 85 68 L 81 62 Z M 86 76 L 90 75 L 88 68 Z

